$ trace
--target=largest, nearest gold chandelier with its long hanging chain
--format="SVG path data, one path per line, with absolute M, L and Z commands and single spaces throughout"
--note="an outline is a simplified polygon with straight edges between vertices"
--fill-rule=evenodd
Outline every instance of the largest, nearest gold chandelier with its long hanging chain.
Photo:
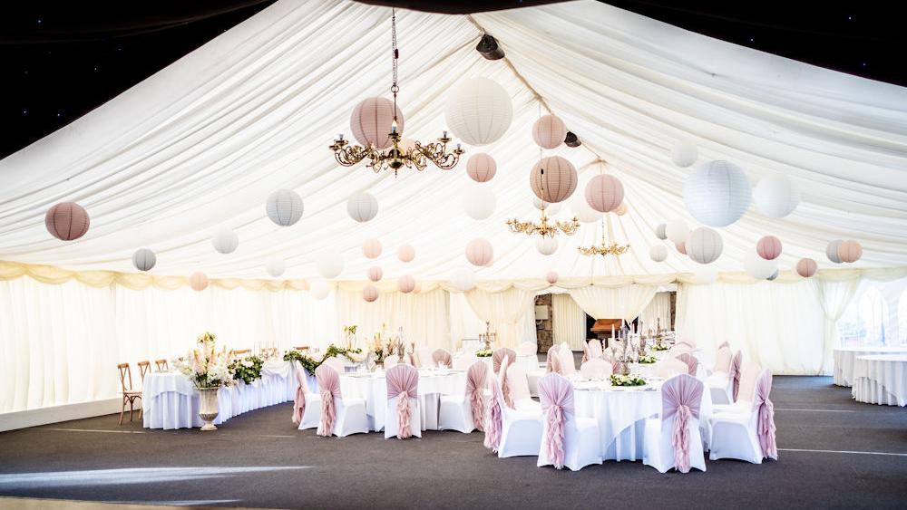
M 454 149 L 447 149 L 447 144 L 451 142 L 451 138 L 447 136 L 447 131 L 444 131 L 441 138 L 425 145 L 415 140 L 403 145 L 400 143 L 403 140 L 403 133 L 397 129 L 396 116 L 396 95 L 400 91 L 400 87 L 397 85 L 397 60 L 400 57 L 400 52 L 396 43 L 395 10 L 392 10 L 391 14 L 391 44 L 394 50 L 392 59 L 394 82 L 391 85 L 391 92 L 394 93 L 394 121 L 391 124 L 391 132 L 388 134 L 388 138 L 393 141 L 393 145 L 388 149 L 377 149 L 372 144 L 367 147 L 349 145 L 349 142 L 344 140 L 341 133 L 328 149 L 334 151 L 334 159 L 344 167 L 352 167 L 359 161 L 368 159 L 367 166 L 372 168 L 375 173 L 389 168 L 394 170 L 394 175 L 396 175 L 397 170 L 404 167 L 422 171 L 428 166 L 429 161 L 438 168 L 449 170 L 456 166 L 460 160 L 460 155 L 465 150 L 461 149 L 459 143 L 456 144 Z

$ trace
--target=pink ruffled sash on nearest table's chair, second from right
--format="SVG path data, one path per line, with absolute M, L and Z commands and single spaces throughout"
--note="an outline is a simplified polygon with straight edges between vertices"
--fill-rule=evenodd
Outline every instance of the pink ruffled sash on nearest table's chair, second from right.
M 689 473 L 688 423 L 690 417 L 699 418 L 702 389 L 702 381 L 687 374 L 672 377 L 661 386 L 661 419 L 677 415 L 671 446 L 674 447 L 674 466 L 681 473 Z

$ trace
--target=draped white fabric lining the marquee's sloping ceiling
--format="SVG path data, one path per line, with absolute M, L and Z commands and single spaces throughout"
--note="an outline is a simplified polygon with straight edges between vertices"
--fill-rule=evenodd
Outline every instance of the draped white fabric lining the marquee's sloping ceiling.
M 328 248 L 346 261 L 339 279 L 413 274 L 446 280 L 465 264 L 463 250 L 486 237 L 495 260 L 480 279 L 666 274 L 695 263 L 673 248 L 649 259 L 658 223 L 683 218 L 688 168 L 674 166 L 675 140 L 699 148 L 700 162 L 728 159 L 755 186 L 780 172 L 803 191 L 783 219 L 751 207 L 719 229 L 723 271 L 739 271 L 761 236 L 785 245 L 781 265 L 811 256 L 832 264 L 834 238 L 863 244 L 858 266 L 907 265 L 907 90 L 832 72 L 692 34 L 598 2 L 571 2 L 466 15 L 398 12 L 400 105 L 405 136 L 434 140 L 444 124 L 447 92 L 473 76 L 500 83 L 513 101 L 513 122 L 501 140 L 467 147 L 487 151 L 498 171 L 490 186 L 497 207 L 475 221 L 463 212 L 474 185 L 465 161 L 453 171 L 430 167 L 375 175 L 339 167 L 327 149 L 349 132 L 358 101 L 389 96 L 390 9 L 352 2 L 283 0 L 186 55 L 62 130 L 0 161 L 0 259 L 68 269 L 133 272 L 132 252 L 158 255 L 152 274 L 267 278 L 273 257 L 286 278 L 317 276 Z M 512 66 L 473 49 L 493 34 Z M 527 86 L 528 84 L 528 86 Z M 531 87 L 531 88 L 530 88 Z M 535 92 L 533 92 L 533 90 Z M 528 173 L 539 158 L 532 122 L 539 98 L 565 120 L 583 145 L 561 147 L 585 182 L 600 171 L 626 189 L 629 213 L 610 215 L 619 259 L 590 258 L 576 247 L 600 240 L 584 224 L 561 236 L 544 257 L 534 238 L 507 232 L 510 217 L 538 220 Z M 10 127 L 15 129 L 14 127 Z M 601 161 L 607 163 L 602 164 Z M 294 226 L 268 219 L 265 200 L 278 188 L 297 191 L 305 213 Z M 346 199 L 377 197 L 374 220 L 359 224 Z M 87 235 L 63 243 L 44 229 L 44 213 L 76 201 L 92 217 Z M 566 218 L 571 207 L 559 217 Z M 210 236 L 229 227 L 239 249 L 217 253 Z M 361 243 L 381 239 L 384 254 L 367 260 Z M 396 247 L 414 245 L 412 263 Z

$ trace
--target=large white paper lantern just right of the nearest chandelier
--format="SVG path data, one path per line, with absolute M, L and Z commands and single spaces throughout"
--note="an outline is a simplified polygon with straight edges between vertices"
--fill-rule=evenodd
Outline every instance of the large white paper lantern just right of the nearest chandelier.
M 460 140 L 469 145 L 488 145 L 510 128 L 513 105 L 510 94 L 488 78 L 457 83 L 447 97 L 444 119 Z

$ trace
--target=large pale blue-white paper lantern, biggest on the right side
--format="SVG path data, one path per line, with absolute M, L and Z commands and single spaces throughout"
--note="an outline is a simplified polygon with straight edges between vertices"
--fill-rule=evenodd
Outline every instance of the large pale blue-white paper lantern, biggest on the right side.
M 743 217 L 751 196 L 743 170 L 721 160 L 694 170 L 683 187 L 689 214 L 707 226 L 728 226 Z

